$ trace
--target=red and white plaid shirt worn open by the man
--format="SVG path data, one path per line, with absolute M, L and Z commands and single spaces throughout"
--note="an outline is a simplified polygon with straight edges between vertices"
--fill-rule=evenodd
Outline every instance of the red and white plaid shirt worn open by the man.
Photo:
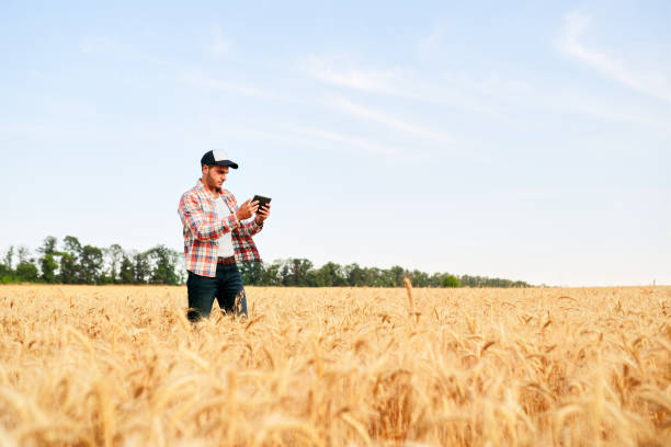
M 215 199 L 201 180 L 180 199 L 178 214 L 184 225 L 186 270 L 196 275 L 216 276 L 219 238 L 228 231 L 231 231 L 236 262 L 261 262 L 251 237 L 261 231 L 263 225 L 257 224 L 257 219 L 239 221 L 236 217 L 238 204 L 234 195 L 221 190 L 221 197 L 231 213 L 224 219 L 217 219 Z

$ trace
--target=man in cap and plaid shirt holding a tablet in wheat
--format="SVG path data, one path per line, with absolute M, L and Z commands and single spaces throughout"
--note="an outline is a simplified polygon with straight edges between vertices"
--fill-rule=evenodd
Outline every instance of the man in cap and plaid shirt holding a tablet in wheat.
M 184 255 L 189 279 L 189 320 L 209 317 L 215 298 L 221 310 L 247 317 L 242 276 L 236 262 L 260 262 L 252 236 L 270 216 L 270 204 L 248 199 L 240 207 L 221 188 L 228 170 L 238 169 L 223 150 L 211 150 L 201 159 L 202 177 L 180 199 L 178 213 L 184 226 Z M 249 219 L 255 214 L 254 218 Z

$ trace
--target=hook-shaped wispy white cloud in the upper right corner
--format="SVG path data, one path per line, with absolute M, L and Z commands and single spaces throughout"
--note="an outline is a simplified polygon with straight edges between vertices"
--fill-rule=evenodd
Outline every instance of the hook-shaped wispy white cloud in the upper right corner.
M 590 24 L 591 18 L 581 13 L 571 13 L 565 18 L 564 32 L 558 42 L 559 49 L 596 69 L 602 74 L 629 87 L 638 92 L 671 102 L 669 76 L 648 70 L 647 72 L 630 69 L 632 64 L 609 56 L 605 53 L 588 48 L 580 41 Z

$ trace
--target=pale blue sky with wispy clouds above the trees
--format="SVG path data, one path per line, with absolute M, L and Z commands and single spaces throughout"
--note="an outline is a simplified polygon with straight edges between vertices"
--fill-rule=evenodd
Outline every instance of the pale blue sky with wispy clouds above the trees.
M 671 3 L 135 3 L 0 4 L 0 248 L 181 249 L 223 148 L 265 261 L 671 284 Z

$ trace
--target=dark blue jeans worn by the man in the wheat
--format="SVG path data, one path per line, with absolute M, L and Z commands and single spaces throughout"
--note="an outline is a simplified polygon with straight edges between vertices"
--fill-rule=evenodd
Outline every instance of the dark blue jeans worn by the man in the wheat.
M 190 321 L 209 317 L 215 298 L 224 312 L 247 317 L 242 275 L 236 264 L 217 264 L 217 274 L 214 278 L 189 272 L 186 290 L 189 295 L 186 318 Z

